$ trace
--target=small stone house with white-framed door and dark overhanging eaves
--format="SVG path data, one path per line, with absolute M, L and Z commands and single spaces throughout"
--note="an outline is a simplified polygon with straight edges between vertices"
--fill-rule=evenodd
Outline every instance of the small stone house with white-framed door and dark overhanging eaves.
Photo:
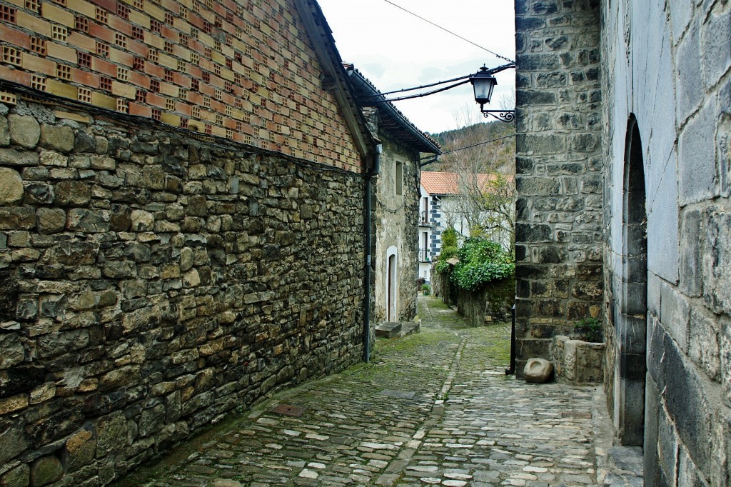
M 414 126 L 352 65 L 346 65 L 358 104 L 382 146 L 373 185 L 374 323 L 408 322 L 416 315 L 420 160 L 439 144 Z M 421 173 L 423 174 L 423 173 Z

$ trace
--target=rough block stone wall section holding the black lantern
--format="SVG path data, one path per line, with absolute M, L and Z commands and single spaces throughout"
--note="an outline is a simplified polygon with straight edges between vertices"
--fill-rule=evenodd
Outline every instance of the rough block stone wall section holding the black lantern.
M 517 0 L 518 370 L 602 312 L 599 1 Z

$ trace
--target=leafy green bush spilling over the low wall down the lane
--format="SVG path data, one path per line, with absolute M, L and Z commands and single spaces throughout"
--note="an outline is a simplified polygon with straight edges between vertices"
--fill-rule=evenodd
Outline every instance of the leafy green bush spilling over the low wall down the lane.
M 499 243 L 485 238 L 468 238 L 457 252 L 459 263 L 450 276 L 464 290 L 474 291 L 482 284 L 498 281 L 515 273 L 512 255 Z

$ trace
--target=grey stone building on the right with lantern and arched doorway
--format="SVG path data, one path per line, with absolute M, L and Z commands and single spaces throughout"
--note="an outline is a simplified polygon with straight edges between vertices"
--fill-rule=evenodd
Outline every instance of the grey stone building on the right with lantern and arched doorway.
M 515 7 L 519 359 L 598 317 L 645 485 L 731 485 L 731 4 Z

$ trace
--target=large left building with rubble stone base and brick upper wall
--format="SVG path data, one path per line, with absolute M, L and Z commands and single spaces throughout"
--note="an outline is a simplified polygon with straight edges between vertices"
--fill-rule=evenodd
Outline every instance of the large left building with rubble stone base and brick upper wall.
M 105 485 L 363 357 L 377 141 L 316 2 L 0 13 L 0 485 Z

